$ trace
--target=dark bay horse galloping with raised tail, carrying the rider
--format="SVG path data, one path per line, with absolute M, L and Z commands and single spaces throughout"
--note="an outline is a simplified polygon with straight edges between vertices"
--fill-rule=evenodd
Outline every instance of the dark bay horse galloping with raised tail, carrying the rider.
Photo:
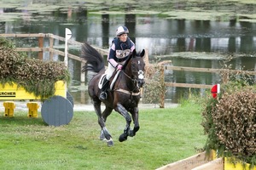
M 83 43 L 81 51 L 81 58 L 86 60 L 82 71 L 92 71 L 95 73 L 95 76 L 90 79 L 88 84 L 88 93 L 101 127 L 100 139 L 106 140 L 108 146 L 113 146 L 112 136 L 106 127 L 107 118 L 113 110 L 124 116 L 126 121 L 124 133 L 120 134 L 119 142 L 125 141 L 128 136 L 135 136 L 140 128 L 138 122 L 138 103 L 141 99 L 140 89 L 143 88 L 143 84 L 145 83 L 145 63 L 143 60 L 145 50 L 143 49 L 139 53 L 133 50 L 125 61 L 122 70 L 114 71 L 109 83 L 111 85 L 113 84 L 113 87 L 108 88 L 108 98 L 103 101 L 99 99 L 101 89 L 98 84 L 106 71 L 104 59 L 87 42 Z M 102 103 L 105 104 L 105 110 L 103 112 L 101 110 Z M 133 129 L 130 126 L 131 119 L 134 122 Z

